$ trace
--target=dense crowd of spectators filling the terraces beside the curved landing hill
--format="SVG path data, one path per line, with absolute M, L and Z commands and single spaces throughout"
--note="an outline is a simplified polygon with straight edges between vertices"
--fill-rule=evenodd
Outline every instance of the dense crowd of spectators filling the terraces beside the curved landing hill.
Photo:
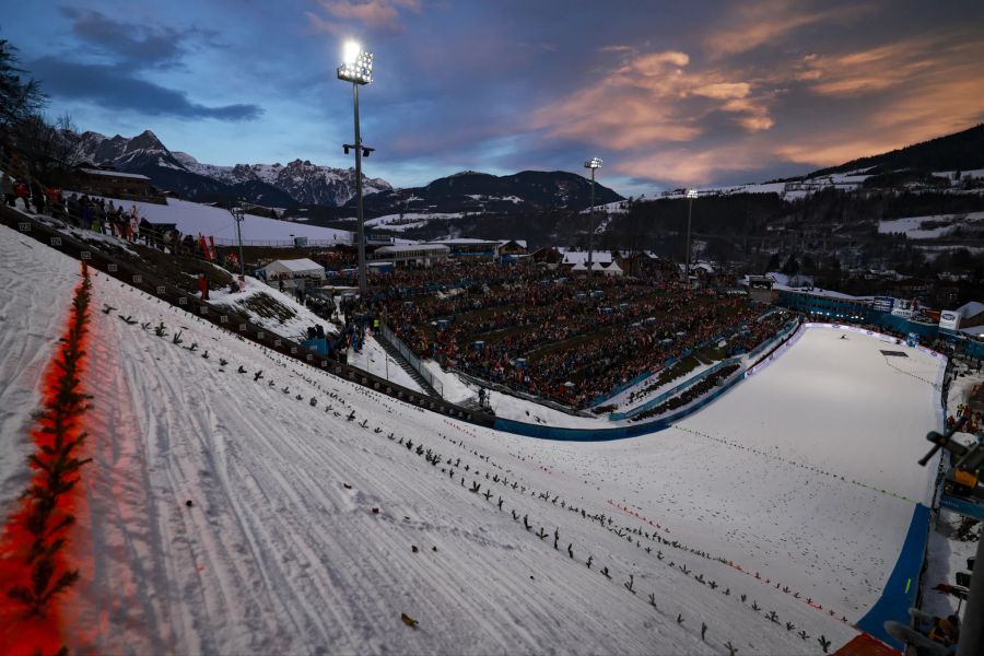
M 415 353 L 575 408 L 691 350 L 743 352 L 784 325 L 743 295 L 526 265 L 452 263 L 371 277 L 360 312 Z

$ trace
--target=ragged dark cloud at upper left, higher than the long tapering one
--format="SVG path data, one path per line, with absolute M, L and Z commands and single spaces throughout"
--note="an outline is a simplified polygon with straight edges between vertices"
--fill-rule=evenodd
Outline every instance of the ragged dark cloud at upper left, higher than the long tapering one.
M 59 11 L 71 21 L 77 38 L 127 68 L 179 66 L 192 42 L 210 42 L 215 34 L 197 27 L 127 23 L 89 9 L 61 7 Z

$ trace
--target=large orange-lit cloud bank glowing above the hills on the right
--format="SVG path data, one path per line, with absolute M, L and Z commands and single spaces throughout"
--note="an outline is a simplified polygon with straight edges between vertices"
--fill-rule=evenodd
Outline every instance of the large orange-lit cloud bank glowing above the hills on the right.
M 784 105 L 790 92 L 797 105 Z M 804 92 L 816 102 L 804 104 Z M 778 130 L 773 112 L 783 116 Z M 719 113 L 742 133 L 713 131 Z M 534 113 L 549 134 L 622 151 L 609 160 L 619 173 L 680 185 L 781 162 L 841 164 L 982 120 L 984 42 L 970 31 L 745 71 L 695 67 L 673 50 L 632 51 L 600 81 Z

